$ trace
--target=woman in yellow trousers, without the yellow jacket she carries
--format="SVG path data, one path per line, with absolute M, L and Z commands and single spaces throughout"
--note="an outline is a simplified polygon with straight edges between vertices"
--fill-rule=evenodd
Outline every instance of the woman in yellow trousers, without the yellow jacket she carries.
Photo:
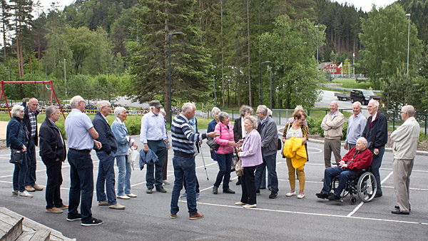
M 302 110 L 295 111 L 294 115 L 294 121 L 287 123 L 284 128 L 284 133 L 282 135 L 282 142 L 285 143 L 285 140 L 288 140 L 290 138 L 302 138 L 302 145 L 306 144 L 309 128 L 307 128 L 307 125 L 304 125 L 303 123 L 306 120 L 306 113 Z M 307 153 L 306 153 L 307 155 Z M 288 179 L 290 180 L 290 193 L 285 194 L 287 197 L 295 196 L 296 190 L 296 169 L 292 165 L 291 158 L 287 158 L 287 167 L 288 167 Z M 299 195 L 297 195 L 297 198 L 302 199 L 305 198 L 305 165 L 301 165 L 299 168 L 297 168 L 297 178 L 299 178 Z

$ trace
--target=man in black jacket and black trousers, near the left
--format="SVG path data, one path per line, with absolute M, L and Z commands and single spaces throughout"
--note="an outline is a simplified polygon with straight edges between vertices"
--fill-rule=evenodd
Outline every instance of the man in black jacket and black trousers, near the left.
M 66 143 L 61 130 L 55 125 L 59 116 L 58 106 L 46 108 L 46 119 L 40 126 L 40 152 L 41 160 L 46 165 L 48 182 L 46 184 L 46 212 L 62 213 L 68 205 L 61 200 L 62 174 L 61 167 L 66 160 Z

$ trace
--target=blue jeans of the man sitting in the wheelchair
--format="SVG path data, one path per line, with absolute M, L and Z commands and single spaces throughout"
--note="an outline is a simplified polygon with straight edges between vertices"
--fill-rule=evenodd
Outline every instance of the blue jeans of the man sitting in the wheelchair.
M 330 190 L 332 190 L 332 178 L 335 176 L 339 176 L 339 185 L 335 190 L 334 195 L 340 197 L 342 190 L 345 188 L 346 181 L 350 179 L 351 176 L 357 175 L 357 173 L 353 170 L 344 170 L 340 167 L 334 168 L 325 168 L 324 170 L 324 188 L 322 188 L 321 192 L 325 194 L 330 194 Z

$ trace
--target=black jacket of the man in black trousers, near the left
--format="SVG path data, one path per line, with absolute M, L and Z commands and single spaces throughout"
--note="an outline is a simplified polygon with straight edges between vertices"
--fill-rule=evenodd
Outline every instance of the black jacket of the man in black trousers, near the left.
M 66 160 L 66 143 L 61 135 L 59 128 L 46 118 L 40 126 L 40 152 L 39 155 L 45 160 Z M 62 133 L 61 133 L 62 134 Z

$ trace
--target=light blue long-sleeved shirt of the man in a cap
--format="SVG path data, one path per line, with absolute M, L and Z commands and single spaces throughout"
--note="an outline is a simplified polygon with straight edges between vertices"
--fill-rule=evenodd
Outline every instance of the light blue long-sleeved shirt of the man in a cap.
M 166 140 L 165 133 L 165 121 L 162 115 L 156 116 L 150 111 L 141 118 L 141 143 L 146 144 L 147 140 Z

